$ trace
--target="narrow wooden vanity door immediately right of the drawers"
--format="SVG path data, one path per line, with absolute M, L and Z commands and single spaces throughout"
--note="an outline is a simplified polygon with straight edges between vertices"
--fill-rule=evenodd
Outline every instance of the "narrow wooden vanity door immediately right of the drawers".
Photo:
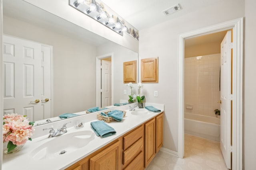
M 156 152 L 156 122 L 155 119 L 145 124 L 145 168 L 154 158 Z

